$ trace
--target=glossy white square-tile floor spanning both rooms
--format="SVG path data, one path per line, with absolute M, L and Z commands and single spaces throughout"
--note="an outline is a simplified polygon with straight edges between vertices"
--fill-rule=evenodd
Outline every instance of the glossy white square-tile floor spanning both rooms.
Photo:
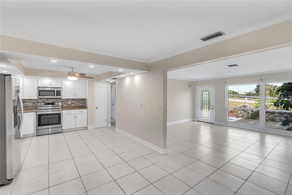
M 0 194 L 292 194 L 291 137 L 187 122 L 163 156 L 114 128 L 22 138 Z

